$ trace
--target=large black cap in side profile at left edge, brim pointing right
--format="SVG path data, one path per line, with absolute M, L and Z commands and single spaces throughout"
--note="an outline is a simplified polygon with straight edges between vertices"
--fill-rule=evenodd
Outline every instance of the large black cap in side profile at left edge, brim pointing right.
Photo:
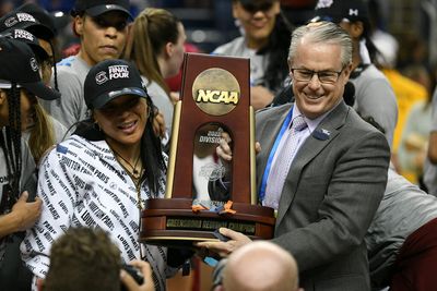
M 45 100 L 54 100 L 61 96 L 59 92 L 43 83 L 38 62 L 28 45 L 9 37 L 0 37 L 0 88 L 11 88 L 12 83 Z

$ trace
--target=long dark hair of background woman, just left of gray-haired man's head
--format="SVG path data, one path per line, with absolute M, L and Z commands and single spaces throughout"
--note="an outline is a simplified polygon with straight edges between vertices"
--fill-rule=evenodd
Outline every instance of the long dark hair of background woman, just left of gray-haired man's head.
M 274 28 L 270 34 L 268 45 L 258 51 L 258 53 L 269 53 L 269 64 L 264 72 L 264 85 L 272 92 L 279 92 L 288 75 L 286 59 L 288 57 L 292 31 L 293 25 L 281 11 L 276 15 Z

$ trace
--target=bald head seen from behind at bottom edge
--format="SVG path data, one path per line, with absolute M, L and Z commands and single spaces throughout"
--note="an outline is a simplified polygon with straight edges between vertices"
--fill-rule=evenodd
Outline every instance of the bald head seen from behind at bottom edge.
M 298 281 L 292 254 L 274 243 L 258 241 L 229 255 L 222 284 L 214 291 L 303 291 Z

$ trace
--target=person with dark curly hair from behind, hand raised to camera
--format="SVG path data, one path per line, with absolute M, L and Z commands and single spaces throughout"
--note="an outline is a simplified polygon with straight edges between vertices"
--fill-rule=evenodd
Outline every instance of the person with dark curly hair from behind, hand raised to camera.
M 102 229 L 70 228 L 50 251 L 50 268 L 45 280 L 38 280 L 38 291 L 154 291 L 150 265 L 142 260 L 132 263 L 142 272 L 144 282 L 139 286 L 121 269 L 120 251 Z

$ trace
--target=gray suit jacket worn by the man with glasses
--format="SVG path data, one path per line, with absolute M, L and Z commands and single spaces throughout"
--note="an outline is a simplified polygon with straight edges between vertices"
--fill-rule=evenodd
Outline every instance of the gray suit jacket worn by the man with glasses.
M 258 189 L 291 106 L 257 113 Z M 386 189 L 389 159 L 385 136 L 343 101 L 302 145 L 281 194 L 273 241 L 296 257 L 306 291 L 370 290 L 364 235 Z

